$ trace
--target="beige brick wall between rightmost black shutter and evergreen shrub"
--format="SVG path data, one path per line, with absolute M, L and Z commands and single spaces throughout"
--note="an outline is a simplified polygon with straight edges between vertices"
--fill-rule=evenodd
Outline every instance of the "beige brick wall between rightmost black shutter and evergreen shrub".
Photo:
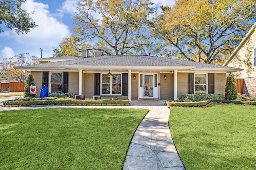
M 214 74 L 214 93 L 225 94 L 226 73 Z

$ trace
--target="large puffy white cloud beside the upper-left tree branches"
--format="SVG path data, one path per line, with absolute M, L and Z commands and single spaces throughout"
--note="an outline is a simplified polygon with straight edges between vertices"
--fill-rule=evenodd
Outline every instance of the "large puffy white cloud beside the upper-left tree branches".
M 10 33 L 6 31 L 7 33 L 4 32 L 1 36 L 14 38 L 17 43 L 24 46 L 55 47 L 64 37 L 71 34 L 67 25 L 51 16 L 47 4 L 29 0 L 23 5 L 23 8 L 27 12 L 34 10 L 31 17 L 38 24 L 38 27 L 31 29 L 27 35 L 17 35 L 14 31 L 10 31 Z

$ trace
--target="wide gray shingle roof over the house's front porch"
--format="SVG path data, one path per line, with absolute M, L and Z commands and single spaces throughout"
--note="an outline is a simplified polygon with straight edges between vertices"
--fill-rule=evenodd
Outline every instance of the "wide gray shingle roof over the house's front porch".
M 141 56 L 141 55 L 110 55 L 100 57 L 78 58 L 68 61 L 58 61 L 52 63 L 34 64 L 24 66 L 30 69 L 38 68 L 71 68 L 74 66 L 95 67 L 95 66 L 152 66 L 152 67 L 194 67 L 198 69 L 236 69 L 227 66 L 197 63 L 193 61 L 184 61 L 178 59 L 169 59 L 162 57 Z M 18 67 L 19 69 L 23 67 Z

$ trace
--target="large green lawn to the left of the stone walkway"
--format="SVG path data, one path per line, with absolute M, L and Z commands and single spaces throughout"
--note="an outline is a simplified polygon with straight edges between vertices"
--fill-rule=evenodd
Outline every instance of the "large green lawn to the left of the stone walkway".
M 147 109 L 0 112 L 0 169 L 121 169 Z

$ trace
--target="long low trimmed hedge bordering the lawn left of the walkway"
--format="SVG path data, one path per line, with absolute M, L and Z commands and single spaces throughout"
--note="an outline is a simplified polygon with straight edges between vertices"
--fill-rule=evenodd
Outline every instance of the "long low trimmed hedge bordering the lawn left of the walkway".
M 96 105 L 96 104 L 128 105 L 129 100 L 31 100 L 31 101 L 10 100 L 10 101 L 3 101 L 3 105 L 15 105 L 15 106 Z

